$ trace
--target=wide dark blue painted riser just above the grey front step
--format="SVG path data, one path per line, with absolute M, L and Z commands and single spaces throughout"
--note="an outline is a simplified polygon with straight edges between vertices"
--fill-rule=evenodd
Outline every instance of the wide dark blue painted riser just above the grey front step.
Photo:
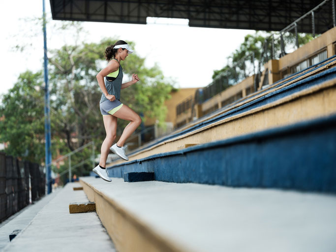
M 336 192 L 336 115 L 109 167 L 112 177 L 230 187 Z

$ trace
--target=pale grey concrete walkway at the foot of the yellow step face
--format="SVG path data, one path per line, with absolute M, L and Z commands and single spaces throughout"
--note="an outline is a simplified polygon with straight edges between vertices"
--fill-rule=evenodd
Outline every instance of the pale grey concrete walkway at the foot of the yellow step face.
M 115 252 L 112 240 L 95 212 L 69 214 L 69 203 L 88 201 L 83 190 L 72 189 L 75 186 L 79 183 L 68 183 L 60 189 L 3 251 Z

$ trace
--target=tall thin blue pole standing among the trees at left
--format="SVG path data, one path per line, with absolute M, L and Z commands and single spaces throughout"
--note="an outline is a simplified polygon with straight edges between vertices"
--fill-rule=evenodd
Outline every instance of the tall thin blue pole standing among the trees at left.
M 44 38 L 44 134 L 45 134 L 45 164 L 46 170 L 46 182 L 48 194 L 51 193 L 51 131 L 50 131 L 50 99 L 48 89 L 48 58 L 47 58 L 47 32 L 46 32 L 46 20 L 45 20 L 45 4 L 43 0 L 43 38 Z

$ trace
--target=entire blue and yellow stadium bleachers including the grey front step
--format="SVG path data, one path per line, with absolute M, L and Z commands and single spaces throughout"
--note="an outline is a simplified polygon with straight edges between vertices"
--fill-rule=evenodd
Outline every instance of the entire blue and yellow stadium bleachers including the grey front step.
M 336 56 L 81 178 L 120 251 L 335 249 Z M 155 181 L 126 183 L 125 174 Z M 242 245 L 242 243 L 244 245 Z

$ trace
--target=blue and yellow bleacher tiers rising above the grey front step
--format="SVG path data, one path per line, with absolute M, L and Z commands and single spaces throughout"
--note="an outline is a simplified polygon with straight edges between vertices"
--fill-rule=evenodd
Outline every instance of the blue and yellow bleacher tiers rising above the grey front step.
M 333 133 L 332 129 L 328 131 L 328 127 L 333 125 L 336 114 L 335 65 L 336 58 L 332 57 L 288 76 L 265 90 L 248 95 L 197 123 L 191 123 L 130 153 L 127 162 L 116 160 L 110 164 L 108 171 L 113 177 L 123 177 L 125 172 L 154 171 L 155 180 L 167 182 L 335 191 L 327 182 L 328 179 L 335 181 L 335 176 L 317 176 L 321 179 L 317 181 L 316 162 L 308 162 L 305 158 L 307 155 L 313 157 L 307 149 L 312 142 L 306 141 L 307 135 L 312 134 L 316 136 L 313 145 L 318 149 L 316 153 L 321 151 L 317 159 L 326 163 L 321 167 L 321 172 L 332 173 L 330 169 L 333 169 L 335 160 L 333 155 L 327 154 L 333 150 L 328 151 L 328 145 L 319 139 L 324 139 L 328 132 Z M 316 127 L 320 127 L 324 135 L 320 136 Z M 310 131 L 302 131 L 302 128 L 310 128 Z M 284 147 L 277 150 L 276 146 L 281 139 L 285 139 L 288 130 L 297 133 L 291 134 Z M 282 138 L 278 139 L 277 135 Z M 335 140 L 332 135 L 328 139 Z M 247 155 L 244 149 L 247 142 L 256 145 L 256 150 L 259 148 L 260 151 Z M 321 146 L 318 146 L 319 143 Z M 178 150 L 184 144 L 198 146 Z M 264 153 L 263 149 L 269 145 L 275 149 L 267 148 L 278 153 L 278 156 L 269 158 Z M 236 156 L 226 157 L 231 149 L 235 150 Z M 296 155 L 290 155 L 288 150 Z M 270 163 L 272 165 L 268 165 Z M 283 166 L 291 168 L 281 168 Z M 270 173 L 268 169 L 274 172 Z M 302 173 L 308 180 L 302 179 Z M 277 183 L 274 181 L 276 177 L 279 178 Z M 310 183 L 310 180 L 316 181 Z

